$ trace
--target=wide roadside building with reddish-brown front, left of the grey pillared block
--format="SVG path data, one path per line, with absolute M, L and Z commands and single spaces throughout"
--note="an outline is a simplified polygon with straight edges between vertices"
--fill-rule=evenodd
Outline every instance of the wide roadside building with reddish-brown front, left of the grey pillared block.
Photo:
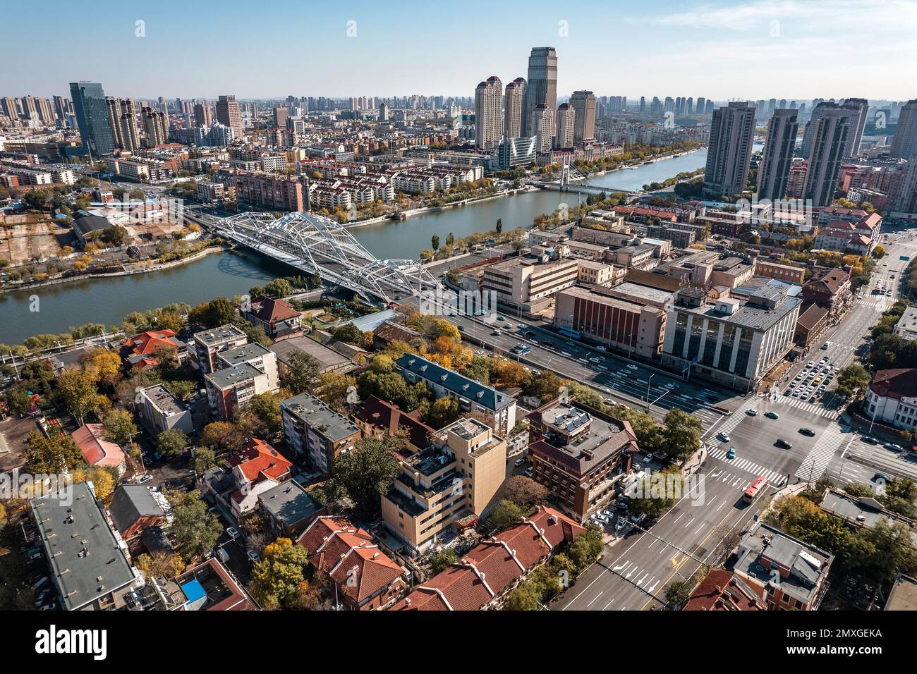
M 555 299 L 555 327 L 644 358 L 657 359 L 662 352 L 666 320 L 665 308 L 628 302 L 579 286 L 559 292 Z

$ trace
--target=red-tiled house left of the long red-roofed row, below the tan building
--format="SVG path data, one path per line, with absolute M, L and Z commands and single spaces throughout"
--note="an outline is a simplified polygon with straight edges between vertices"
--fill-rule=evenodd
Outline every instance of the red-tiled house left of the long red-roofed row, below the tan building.
M 346 518 L 317 518 L 297 543 L 308 552 L 309 563 L 334 581 L 337 600 L 351 611 L 384 610 L 407 587 L 407 571 Z

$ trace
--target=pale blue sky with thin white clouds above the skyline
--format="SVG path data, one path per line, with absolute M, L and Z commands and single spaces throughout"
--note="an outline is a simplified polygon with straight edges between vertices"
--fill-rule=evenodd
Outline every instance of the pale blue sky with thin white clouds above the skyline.
M 558 53 L 558 95 L 917 97 L 917 0 L 0 2 L 0 95 L 473 95 Z

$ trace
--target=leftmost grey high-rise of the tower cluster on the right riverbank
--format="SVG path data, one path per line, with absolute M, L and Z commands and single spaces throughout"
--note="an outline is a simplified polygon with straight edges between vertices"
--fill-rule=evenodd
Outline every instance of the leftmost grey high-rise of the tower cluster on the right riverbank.
M 730 103 L 713 111 L 704 196 L 733 196 L 745 190 L 754 136 L 754 105 Z

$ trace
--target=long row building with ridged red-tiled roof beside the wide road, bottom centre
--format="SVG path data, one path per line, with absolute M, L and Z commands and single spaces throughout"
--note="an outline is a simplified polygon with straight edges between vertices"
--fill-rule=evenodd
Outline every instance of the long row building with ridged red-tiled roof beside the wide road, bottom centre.
M 481 611 L 506 594 L 563 543 L 586 528 L 553 508 L 538 512 L 471 548 L 457 564 L 437 573 L 392 606 L 393 611 Z

